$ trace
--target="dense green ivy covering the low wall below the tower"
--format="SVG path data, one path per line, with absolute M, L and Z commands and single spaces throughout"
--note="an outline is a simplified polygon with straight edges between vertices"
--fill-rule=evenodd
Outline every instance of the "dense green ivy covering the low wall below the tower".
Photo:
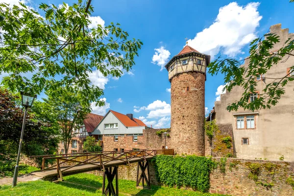
M 215 162 L 209 158 L 157 155 L 152 162 L 158 181 L 167 186 L 191 187 L 201 192 L 209 190 L 209 174 L 215 166 Z

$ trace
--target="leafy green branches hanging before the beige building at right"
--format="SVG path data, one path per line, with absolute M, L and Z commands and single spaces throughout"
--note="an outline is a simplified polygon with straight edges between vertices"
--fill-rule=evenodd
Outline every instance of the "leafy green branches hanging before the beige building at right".
M 290 0 L 293 2 L 293 0 Z M 225 89 L 230 92 L 235 86 L 244 88 L 244 93 L 240 100 L 229 104 L 226 109 L 228 111 L 237 111 L 239 107 L 247 110 L 258 110 L 270 108 L 278 103 L 278 100 L 285 94 L 285 86 L 294 81 L 294 65 L 290 68 L 290 72 L 280 78 L 269 78 L 271 82 L 268 83 L 263 93 L 259 98 L 248 103 L 251 92 L 256 92 L 256 76 L 258 74 L 267 73 L 273 65 L 276 65 L 282 59 L 287 61 L 294 57 L 294 39 L 289 39 L 285 42 L 284 47 L 276 52 L 271 52 L 275 44 L 279 43 L 279 36 L 274 33 L 267 33 L 263 37 L 257 38 L 250 43 L 250 55 L 243 60 L 236 60 L 233 58 L 222 59 L 221 56 L 217 60 L 208 65 L 209 71 L 212 75 L 222 73 L 224 74 Z M 244 67 L 245 60 L 249 60 L 248 67 Z

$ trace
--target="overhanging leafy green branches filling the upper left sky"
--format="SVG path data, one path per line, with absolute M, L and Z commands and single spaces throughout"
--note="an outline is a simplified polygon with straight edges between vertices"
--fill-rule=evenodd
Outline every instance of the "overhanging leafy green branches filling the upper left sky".
M 0 3 L 0 73 L 9 73 L 2 84 L 31 94 L 74 86 L 82 103 L 102 106 L 103 91 L 91 85 L 89 73 L 120 77 L 135 64 L 143 43 L 128 40 L 120 24 L 90 29 L 91 0 L 61 7 L 41 3 L 39 9 L 45 18 L 23 3 Z

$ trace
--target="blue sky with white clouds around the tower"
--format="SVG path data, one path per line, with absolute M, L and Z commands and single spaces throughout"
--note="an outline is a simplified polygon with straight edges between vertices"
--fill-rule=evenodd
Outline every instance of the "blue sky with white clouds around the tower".
M 26 1 L 32 7 L 40 2 L 61 4 L 59 0 Z M 130 38 L 144 43 L 131 73 L 119 79 L 97 72 L 91 75 L 93 83 L 104 88 L 102 98 L 106 101 L 102 108 L 93 107 L 93 112 L 103 115 L 112 109 L 133 113 L 153 127 L 170 126 L 171 94 L 167 89 L 171 85 L 168 72 L 161 67 L 184 47 L 186 37 L 190 46 L 212 58 L 222 55 L 240 59 L 248 54 L 248 43 L 268 32 L 270 25 L 281 23 L 282 28 L 294 32 L 294 3 L 289 0 L 92 0 L 92 5 L 93 22 L 120 23 Z M 214 106 L 222 79 L 222 75 L 207 74 L 208 110 Z

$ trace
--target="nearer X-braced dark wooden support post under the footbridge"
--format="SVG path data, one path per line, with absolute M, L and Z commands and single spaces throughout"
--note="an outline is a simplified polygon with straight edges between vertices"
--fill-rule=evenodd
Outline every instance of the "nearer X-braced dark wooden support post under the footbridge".
M 112 168 L 105 168 L 103 172 L 103 182 L 102 182 L 102 195 L 105 196 L 119 196 L 119 177 L 118 177 L 118 166 Z M 115 177 L 115 189 L 113 185 L 113 180 Z M 105 188 L 105 180 L 107 178 L 108 184 Z

